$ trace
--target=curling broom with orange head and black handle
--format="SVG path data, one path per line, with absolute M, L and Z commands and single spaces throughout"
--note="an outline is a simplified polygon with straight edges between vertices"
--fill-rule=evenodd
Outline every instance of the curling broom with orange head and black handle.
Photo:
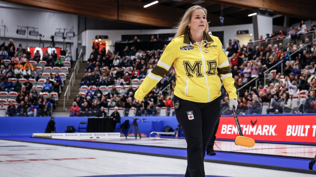
M 236 125 L 237 125 L 237 129 L 238 129 L 238 132 L 239 132 L 239 135 L 240 135 L 240 136 L 236 136 L 235 144 L 239 145 L 239 146 L 245 146 L 245 147 L 253 147 L 253 146 L 255 146 L 255 140 L 253 140 L 252 138 L 248 138 L 248 137 L 243 135 L 242 130 L 240 128 L 239 120 L 238 120 L 237 113 L 236 113 L 236 110 L 235 110 L 234 106 L 233 106 L 232 111 L 233 111 L 233 114 L 234 114 L 234 118 L 235 118 L 235 122 L 236 122 Z

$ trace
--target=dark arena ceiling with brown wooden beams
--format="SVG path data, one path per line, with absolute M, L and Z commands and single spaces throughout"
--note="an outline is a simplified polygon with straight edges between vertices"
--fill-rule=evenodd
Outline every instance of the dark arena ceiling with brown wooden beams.
M 208 10 L 211 26 L 219 26 L 221 14 L 225 25 L 251 23 L 248 14 L 260 11 L 270 16 L 287 15 L 315 20 L 315 0 L 3 0 L 42 9 L 77 14 L 102 20 L 122 21 L 150 26 L 173 27 L 185 10 L 200 5 Z

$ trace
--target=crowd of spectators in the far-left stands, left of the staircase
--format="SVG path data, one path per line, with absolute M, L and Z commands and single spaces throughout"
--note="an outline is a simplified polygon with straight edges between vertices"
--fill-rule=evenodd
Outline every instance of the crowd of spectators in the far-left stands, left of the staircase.
M 9 106 L 6 110 L 8 116 L 51 116 L 52 111 L 56 108 L 56 100 L 51 92 L 59 93 L 62 89 L 63 80 L 56 73 L 55 76 L 50 75 L 43 84 L 43 89 L 36 88 L 36 82 L 41 78 L 40 71 L 36 66 L 30 63 L 31 60 L 39 62 L 40 53 L 37 51 L 33 57 L 31 53 L 23 48 L 22 44 L 15 48 L 14 41 L 9 40 L 9 44 L 5 43 L 0 46 L 0 91 L 17 92 L 14 101 L 9 100 Z M 68 52 L 68 58 L 71 54 Z M 10 60 L 10 63 L 4 63 L 4 60 Z M 43 60 L 47 61 L 47 66 L 55 66 L 60 63 L 60 56 L 55 51 L 52 54 L 43 54 Z M 69 59 L 67 59 L 69 60 Z M 16 82 L 12 79 L 16 78 Z M 26 82 L 20 83 L 19 79 L 24 78 Z M 30 82 L 34 79 L 35 82 Z M 43 97 L 42 92 L 50 93 L 48 97 Z

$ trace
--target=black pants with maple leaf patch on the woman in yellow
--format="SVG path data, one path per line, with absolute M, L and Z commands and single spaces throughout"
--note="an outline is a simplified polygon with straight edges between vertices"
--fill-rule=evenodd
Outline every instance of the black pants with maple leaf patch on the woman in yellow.
M 203 161 L 206 147 L 220 116 L 220 98 L 209 103 L 197 103 L 175 95 L 174 102 L 177 100 L 180 106 L 175 110 L 175 114 L 187 143 L 188 165 L 185 177 L 205 177 Z M 187 112 L 193 112 L 193 117 L 188 116 Z

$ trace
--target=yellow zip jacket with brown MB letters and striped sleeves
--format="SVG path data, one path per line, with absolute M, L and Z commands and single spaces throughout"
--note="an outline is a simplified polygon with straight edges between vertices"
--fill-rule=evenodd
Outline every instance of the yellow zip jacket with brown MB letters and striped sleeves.
M 162 53 L 157 66 L 146 76 L 136 91 L 135 98 L 143 100 L 145 95 L 160 82 L 172 64 L 177 74 L 174 88 L 174 95 L 177 97 L 199 103 L 215 100 L 221 95 L 221 77 L 229 99 L 237 99 L 234 79 L 222 43 L 218 37 L 205 32 L 201 47 L 192 40 L 190 33 L 172 39 Z

